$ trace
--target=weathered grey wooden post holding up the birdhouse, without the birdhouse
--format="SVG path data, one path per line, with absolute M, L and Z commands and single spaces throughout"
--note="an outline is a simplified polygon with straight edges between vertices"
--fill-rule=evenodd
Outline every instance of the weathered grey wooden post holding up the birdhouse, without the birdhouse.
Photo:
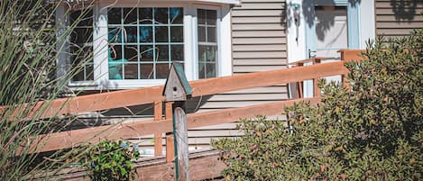
M 177 102 L 178 103 L 178 102 Z M 188 145 L 188 125 L 187 114 L 184 111 L 184 102 L 175 104 L 174 109 L 174 141 L 177 159 L 175 160 L 177 180 L 188 181 L 189 178 L 189 145 Z

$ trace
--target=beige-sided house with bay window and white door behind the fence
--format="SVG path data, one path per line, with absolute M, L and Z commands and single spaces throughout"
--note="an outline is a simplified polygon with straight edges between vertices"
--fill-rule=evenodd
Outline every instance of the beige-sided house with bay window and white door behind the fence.
M 87 91 L 162 85 L 172 62 L 183 64 L 187 78 L 196 80 L 288 68 L 291 62 L 313 57 L 332 61 L 340 58 L 337 50 L 364 49 L 377 35 L 404 36 L 423 28 L 423 3 L 417 0 L 90 3 L 69 0 L 56 13 L 61 29 L 77 17 L 85 17 L 76 24 L 69 41 L 58 45 L 58 75 L 78 63 L 81 56 L 92 57 L 69 83 L 71 88 Z M 89 11 L 81 14 L 87 8 Z M 306 81 L 304 86 L 304 96 L 311 96 L 312 84 Z M 200 97 L 191 100 L 188 108 L 191 113 L 205 112 L 288 97 L 287 85 L 260 87 Z M 147 108 L 134 106 L 103 115 L 140 118 L 149 114 Z M 207 148 L 210 138 L 240 135 L 234 128 L 234 123 L 225 123 L 192 130 L 189 143 Z

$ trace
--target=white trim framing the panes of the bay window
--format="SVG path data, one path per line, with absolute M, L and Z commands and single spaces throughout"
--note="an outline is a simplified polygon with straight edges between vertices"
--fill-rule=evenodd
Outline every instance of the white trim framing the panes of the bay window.
M 198 79 L 198 24 L 197 9 L 216 10 L 217 13 L 217 46 L 218 58 L 216 76 L 232 75 L 232 39 L 230 5 L 198 5 L 194 3 L 178 2 L 145 2 L 134 3 L 122 1 L 118 4 L 99 2 L 94 6 L 94 81 L 73 81 L 69 86 L 73 89 L 130 89 L 143 86 L 159 86 L 165 79 L 125 79 L 111 80 L 108 77 L 108 36 L 107 36 L 107 8 L 109 7 L 183 7 L 184 8 L 184 63 L 188 80 Z M 69 59 L 69 58 L 68 58 Z M 58 60 L 62 63 L 62 60 Z

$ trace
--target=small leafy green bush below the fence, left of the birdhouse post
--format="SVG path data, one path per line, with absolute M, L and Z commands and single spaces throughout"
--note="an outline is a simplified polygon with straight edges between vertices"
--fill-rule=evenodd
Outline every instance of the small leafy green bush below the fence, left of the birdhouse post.
M 138 145 L 122 140 L 102 141 L 88 149 L 84 165 L 91 172 L 91 180 L 129 180 L 135 178 L 134 158 L 140 158 Z

